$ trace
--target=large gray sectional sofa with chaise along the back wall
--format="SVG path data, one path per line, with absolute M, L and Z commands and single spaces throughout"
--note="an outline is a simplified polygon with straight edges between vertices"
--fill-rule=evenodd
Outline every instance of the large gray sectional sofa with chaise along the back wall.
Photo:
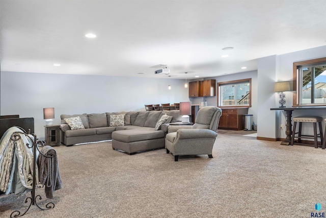
M 123 126 L 111 126 L 110 116 L 124 114 Z M 169 119 L 155 130 L 162 115 Z M 71 130 L 65 118 L 79 116 L 84 129 Z M 114 117 L 114 116 L 112 116 Z M 164 148 L 169 123 L 181 122 L 179 110 L 171 111 L 129 111 L 115 113 L 91 113 L 61 115 L 60 142 L 66 146 L 112 139 L 112 148 L 134 154 L 139 151 Z

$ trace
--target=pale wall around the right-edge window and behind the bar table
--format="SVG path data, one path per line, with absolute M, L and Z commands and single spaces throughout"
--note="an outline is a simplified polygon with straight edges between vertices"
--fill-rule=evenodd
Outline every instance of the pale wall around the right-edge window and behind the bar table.
M 259 137 L 285 138 L 286 117 L 284 111 L 270 111 L 279 107 L 279 93 L 274 92 L 274 84 L 279 81 L 293 80 L 293 62 L 326 57 L 326 46 L 275 55 L 258 59 L 258 132 Z M 293 104 L 293 93 L 285 92 L 286 107 Z M 316 115 L 326 117 L 324 110 L 298 110 L 293 116 Z M 283 130 L 280 125 L 283 124 Z M 324 126 L 324 123 L 323 123 Z M 260 127 L 260 128 L 259 128 Z M 262 128 L 261 128 L 262 127 Z M 324 128 L 324 127 L 323 127 Z M 304 124 L 303 134 L 312 134 L 312 125 Z

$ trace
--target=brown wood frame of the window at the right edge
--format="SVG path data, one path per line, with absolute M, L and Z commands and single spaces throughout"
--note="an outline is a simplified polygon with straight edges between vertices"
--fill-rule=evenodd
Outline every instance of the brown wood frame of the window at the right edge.
M 310 65 L 310 64 L 318 64 L 326 62 L 326 57 L 325 58 L 317 58 L 317 59 L 312 59 L 312 60 L 307 60 L 307 61 L 300 61 L 300 62 L 294 62 L 293 63 L 293 107 L 300 107 L 300 106 L 326 106 L 326 104 L 322 103 L 311 103 L 311 104 L 300 104 L 300 99 L 301 99 L 301 92 L 300 92 L 300 76 L 298 68 L 302 67 L 303 65 Z

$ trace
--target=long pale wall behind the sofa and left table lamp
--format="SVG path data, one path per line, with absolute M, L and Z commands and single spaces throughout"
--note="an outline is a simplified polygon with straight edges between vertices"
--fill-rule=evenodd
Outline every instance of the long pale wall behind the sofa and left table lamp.
M 53 124 L 61 114 L 145 110 L 145 104 L 189 101 L 183 80 L 85 75 L 0 74 L 0 114 L 34 117 L 35 134 L 44 139 L 43 108 L 54 107 Z

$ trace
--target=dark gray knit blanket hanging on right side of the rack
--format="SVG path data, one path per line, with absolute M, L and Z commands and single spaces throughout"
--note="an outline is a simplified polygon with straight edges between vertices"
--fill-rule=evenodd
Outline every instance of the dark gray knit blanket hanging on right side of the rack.
M 41 150 L 41 153 L 53 156 L 52 158 L 48 158 L 39 154 L 37 158 L 40 183 L 45 185 L 46 198 L 51 199 L 53 198 L 53 191 L 62 187 L 57 152 L 51 146 L 45 146 Z

